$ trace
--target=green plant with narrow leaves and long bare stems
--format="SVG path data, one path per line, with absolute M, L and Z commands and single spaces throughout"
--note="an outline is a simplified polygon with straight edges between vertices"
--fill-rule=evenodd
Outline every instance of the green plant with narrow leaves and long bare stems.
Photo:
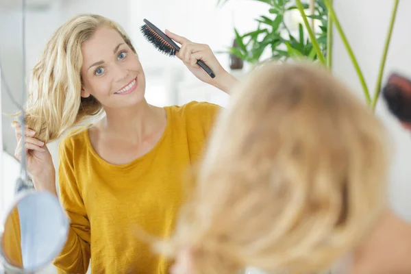
M 217 4 L 223 5 L 227 1 L 228 0 L 218 0 Z M 290 58 L 308 58 L 314 62 L 321 62 L 321 64 L 332 69 L 332 38 L 333 26 L 335 26 L 360 79 L 366 104 L 375 110 L 375 105 L 379 98 L 379 91 L 381 90 L 382 75 L 384 73 L 386 56 L 393 32 L 395 17 L 397 15 L 399 0 L 395 0 L 391 13 L 390 25 L 373 97 L 370 95 L 364 75 L 351 49 L 351 45 L 347 40 L 347 36 L 345 36 L 340 21 L 338 21 L 338 17 L 332 6 L 332 0 L 253 1 L 266 3 L 267 14 L 260 15 L 256 18 L 256 21 L 259 23 L 257 29 L 253 29 L 246 34 L 240 34 L 237 29 L 234 29 L 237 47 L 230 47 L 228 49 L 230 54 L 238 56 L 238 58 L 245 60 L 252 66 L 273 59 L 286 62 Z M 298 35 L 292 34 L 284 21 L 286 12 L 295 9 L 299 10 L 303 21 L 303 24 L 299 24 Z M 307 9 L 310 9 L 310 14 L 306 14 Z M 310 25 L 309 19 L 319 22 L 317 29 L 313 27 L 313 24 Z M 306 33 L 308 37 L 306 37 Z M 269 50 L 271 54 L 269 58 L 262 60 L 262 53 L 267 50 Z

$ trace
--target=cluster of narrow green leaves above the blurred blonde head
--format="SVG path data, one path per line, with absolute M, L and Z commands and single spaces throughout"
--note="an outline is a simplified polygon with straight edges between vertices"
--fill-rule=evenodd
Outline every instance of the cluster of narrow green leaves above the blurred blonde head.
M 219 2 L 227 2 L 228 0 L 218 0 Z M 258 27 L 250 29 L 245 34 L 238 34 L 236 31 L 236 42 L 238 48 L 232 49 L 230 53 L 238 56 L 246 62 L 258 64 L 262 53 L 267 50 L 271 51 L 271 57 L 266 60 L 276 59 L 286 62 L 289 58 L 301 58 L 306 56 L 310 60 L 319 61 L 319 57 L 323 57 L 327 53 L 327 18 L 328 12 L 323 1 L 315 0 L 315 11 L 313 16 L 308 16 L 316 20 L 320 20 L 321 31 L 314 33 L 314 36 L 306 37 L 306 22 L 299 24 L 297 36 L 292 36 L 284 25 L 284 12 L 288 10 L 299 9 L 301 7 L 305 10 L 309 8 L 307 0 L 255 0 L 262 3 L 269 4 L 266 9 L 266 15 L 258 16 L 254 20 L 258 22 Z M 306 3 L 301 3 L 305 1 Z M 270 15 L 273 15 L 271 17 Z M 270 18 L 271 17 L 271 18 Z M 322 24 L 322 25 L 321 25 Z M 268 27 L 269 26 L 269 27 Z M 280 34 L 287 31 L 289 36 L 283 38 Z M 311 38 L 314 38 L 316 47 L 314 47 Z M 298 40 L 297 40 L 298 39 Z M 319 54 L 320 52 L 320 55 Z

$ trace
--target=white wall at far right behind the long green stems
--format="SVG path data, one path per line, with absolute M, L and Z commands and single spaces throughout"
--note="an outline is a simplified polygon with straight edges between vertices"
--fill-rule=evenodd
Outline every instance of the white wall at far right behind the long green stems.
M 393 8 L 393 0 L 334 0 L 340 23 L 358 58 L 369 89 L 374 90 L 379 60 Z M 399 71 L 411 77 L 411 1 L 400 1 L 397 21 L 388 53 L 384 79 L 388 73 Z M 352 88 L 361 86 L 343 43 L 334 31 L 334 73 Z M 390 198 L 393 208 L 411 221 L 411 136 L 388 113 L 384 101 L 377 105 L 377 115 L 386 123 L 393 145 L 393 167 L 390 175 Z

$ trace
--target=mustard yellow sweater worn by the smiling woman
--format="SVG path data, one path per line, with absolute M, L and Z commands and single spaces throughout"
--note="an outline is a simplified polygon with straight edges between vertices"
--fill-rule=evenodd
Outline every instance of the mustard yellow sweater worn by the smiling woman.
M 71 219 L 58 273 L 169 273 L 170 262 L 136 233 L 142 227 L 168 237 L 182 204 L 182 177 L 199 158 L 219 106 L 191 102 L 166 107 L 167 125 L 157 145 L 124 165 L 105 162 L 88 130 L 60 142 L 59 192 Z

